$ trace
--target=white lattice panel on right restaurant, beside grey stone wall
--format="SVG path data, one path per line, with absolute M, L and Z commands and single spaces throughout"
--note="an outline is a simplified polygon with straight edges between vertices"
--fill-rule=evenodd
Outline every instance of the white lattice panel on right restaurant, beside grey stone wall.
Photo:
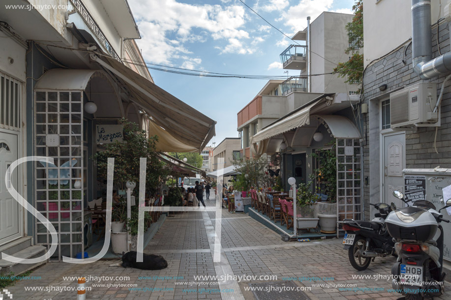
M 362 219 L 362 151 L 357 138 L 337 138 L 337 220 Z M 339 231 L 337 231 L 337 235 Z

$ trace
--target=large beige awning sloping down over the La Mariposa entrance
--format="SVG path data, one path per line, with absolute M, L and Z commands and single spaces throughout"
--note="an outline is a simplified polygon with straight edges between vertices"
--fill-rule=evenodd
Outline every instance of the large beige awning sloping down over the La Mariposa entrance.
M 215 135 L 215 121 L 193 109 L 116 59 L 91 58 L 116 75 L 130 92 L 130 100 L 145 110 L 158 126 L 199 153 Z

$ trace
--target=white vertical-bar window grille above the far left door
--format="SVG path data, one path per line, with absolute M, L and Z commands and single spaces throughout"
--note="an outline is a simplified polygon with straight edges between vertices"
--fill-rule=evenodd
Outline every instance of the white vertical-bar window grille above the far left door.
M 20 130 L 22 83 L 0 73 L 0 127 Z

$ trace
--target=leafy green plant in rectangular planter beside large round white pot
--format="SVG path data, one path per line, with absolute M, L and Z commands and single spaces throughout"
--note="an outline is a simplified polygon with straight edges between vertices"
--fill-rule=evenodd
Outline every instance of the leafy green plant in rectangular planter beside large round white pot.
M 311 182 L 308 182 L 298 185 L 298 193 L 296 194 L 298 228 L 316 228 L 318 225 L 319 219 L 315 213 L 318 195 L 312 192 L 311 184 Z

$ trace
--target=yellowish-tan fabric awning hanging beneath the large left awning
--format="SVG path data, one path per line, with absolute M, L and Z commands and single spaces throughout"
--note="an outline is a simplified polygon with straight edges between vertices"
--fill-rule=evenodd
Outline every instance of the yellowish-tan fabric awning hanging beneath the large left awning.
M 149 135 L 158 136 L 156 142 L 156 151 L 159 152 L 196 152 L 197 148 L 184 144 L 174 136 L 171 136 L 166 130 L 149 121 Z

